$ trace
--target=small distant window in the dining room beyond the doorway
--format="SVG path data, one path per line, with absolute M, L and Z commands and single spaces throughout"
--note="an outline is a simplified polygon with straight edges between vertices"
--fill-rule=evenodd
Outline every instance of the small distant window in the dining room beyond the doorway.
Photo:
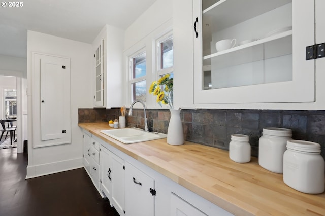
M 5 117 L 16 118 L 17 117 L 17 90 L 5 89 Z

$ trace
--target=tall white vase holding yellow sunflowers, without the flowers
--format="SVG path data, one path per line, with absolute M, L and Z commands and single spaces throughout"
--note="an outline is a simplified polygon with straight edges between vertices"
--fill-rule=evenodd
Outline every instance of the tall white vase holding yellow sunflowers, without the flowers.
M 167 131 L 167 143 L 170 145 L 184 144 L 183 125 L 180 117 L 181 110 L 170 109 L 171 119 Z

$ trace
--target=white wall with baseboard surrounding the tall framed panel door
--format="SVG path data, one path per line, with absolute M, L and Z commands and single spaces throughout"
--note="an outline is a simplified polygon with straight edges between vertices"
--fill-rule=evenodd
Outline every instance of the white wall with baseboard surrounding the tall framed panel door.
M 71 58 L 72 142 L 49 147 L 32 147 L 32 52 Z M 82 133 L 78 127 L 78 108 L 92 107 L 92 45 L 35 31 L 27 32 L 28 74 L 28 166 L 27 177 L 82 167 Z

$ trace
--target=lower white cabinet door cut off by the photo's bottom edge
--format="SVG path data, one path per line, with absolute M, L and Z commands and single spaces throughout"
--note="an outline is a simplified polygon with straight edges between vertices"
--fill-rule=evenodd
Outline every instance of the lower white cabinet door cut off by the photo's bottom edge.
M 171 216 L 207 216 L 176 194 L 171 195 Z

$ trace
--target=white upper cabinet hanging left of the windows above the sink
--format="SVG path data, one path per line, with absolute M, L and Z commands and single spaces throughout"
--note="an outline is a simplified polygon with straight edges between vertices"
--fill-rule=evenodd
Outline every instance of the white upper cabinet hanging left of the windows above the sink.
M 120 107 L 123 95 L 124 30 L 105 25 L 93 41 L 94 107 Z

